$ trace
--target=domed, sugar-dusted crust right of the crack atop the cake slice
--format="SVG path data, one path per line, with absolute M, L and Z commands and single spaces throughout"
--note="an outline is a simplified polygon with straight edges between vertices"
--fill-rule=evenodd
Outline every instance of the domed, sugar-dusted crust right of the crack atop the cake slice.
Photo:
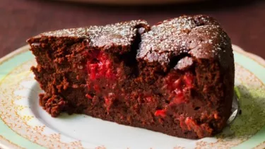
M 137 59 L 167 67 L 174 57 L 186 54 L 197 59 L 218 59 L 222 64 L 232 53 L 230 38 L 208 16 L 181 16 L 153 25 L 142 35 Z

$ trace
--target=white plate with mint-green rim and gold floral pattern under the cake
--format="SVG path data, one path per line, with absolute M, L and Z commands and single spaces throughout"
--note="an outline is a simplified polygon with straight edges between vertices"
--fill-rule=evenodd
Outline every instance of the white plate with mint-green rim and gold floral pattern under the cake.
M 265 148 L 265 61 L 240 47 L 233 46 L 235 90 L 242 114 L 216 137 L 200 140 L 81 114 L 49 117 L 37 105 L 42 90 L 30 71 L 36 62 L 28 48 L 0 59 L 0 148 Z

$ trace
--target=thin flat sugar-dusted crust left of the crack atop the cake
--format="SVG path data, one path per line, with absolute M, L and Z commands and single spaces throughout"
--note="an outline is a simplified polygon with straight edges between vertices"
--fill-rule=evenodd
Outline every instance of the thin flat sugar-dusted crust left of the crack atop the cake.
M 145 32 L 148 29 L 149 25 L 146 20 L 131 20 L 110 25 L 43 32 L 40 35 L 30 38 L 28 42 L 41 37 L 73 37 L 84 38 L 90 43 L 91 47 L 124 47 L 134 41 L 136 32 Z

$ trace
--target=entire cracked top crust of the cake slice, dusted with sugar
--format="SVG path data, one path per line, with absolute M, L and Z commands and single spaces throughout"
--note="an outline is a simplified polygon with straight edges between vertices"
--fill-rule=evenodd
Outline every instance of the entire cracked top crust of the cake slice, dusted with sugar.
M 136 59 L 158 62 L 164 68 L 169 68 L 170 62 L 177 56 L 218 59 L 222 66 L 233 63 L 230 38 L 215 19 L 202 15 L 164 20 L 151 28 L 146 20 L 131 20 L 111 25 L 56 30 L 41 33 L 28 42 L 35 44 L 53 37 L 83 39 L 92 49 L 124 53 L 131 50 L 137 34 L 141 34 L 141 42 Z

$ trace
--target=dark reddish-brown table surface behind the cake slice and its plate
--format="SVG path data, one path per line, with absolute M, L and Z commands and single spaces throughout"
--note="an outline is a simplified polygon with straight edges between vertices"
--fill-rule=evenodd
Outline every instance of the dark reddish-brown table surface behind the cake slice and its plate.
M 154 24 L 182 14 L 216 18 L 232 43 L 265 59 L 265 1 L 230 0 L 159 6 L 100 6 L 61 1 L 0 0 L 0 57 L 25 45 L 40 32 L 121 20 Z

